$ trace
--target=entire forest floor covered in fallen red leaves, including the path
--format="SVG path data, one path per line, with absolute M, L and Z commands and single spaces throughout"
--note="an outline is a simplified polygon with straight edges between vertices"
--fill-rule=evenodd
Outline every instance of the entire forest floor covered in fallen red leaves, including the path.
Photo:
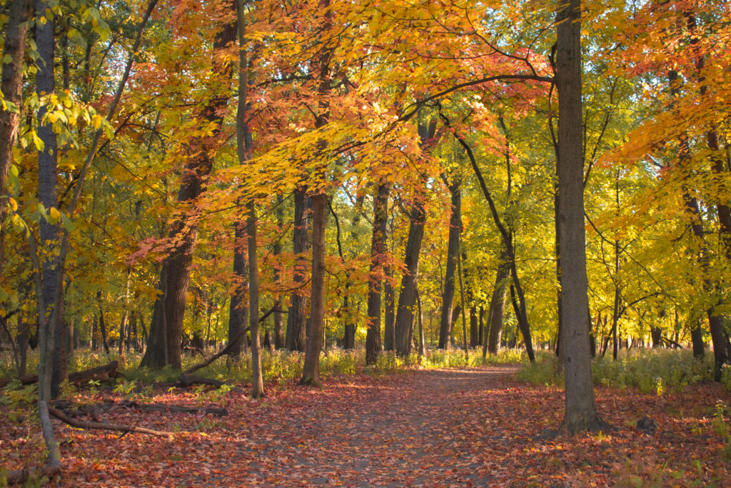
M 102 418 L 173 431 L 172 440 L 54 421 L 64 469 L 49 486 L 730 486 L 728 411 L 716 402 L 731 405 L 731 394 L 718 384 L 660 396 L 599 387 L 599 412 L 615 429 L 547 438 L 561 424 L 561 388 L 519 383 L 515 369 L 331 377 L 320 388 L 271 386 L 256 400 L 247 391 L 147 391 L 151 402 L 229 414 L 118 408 Z M 122 397 L 82 391 L 76 401 L 102 399 Z M 656 432 L 635 430 L 645 415 Z M 41 461 L 32 425 L 0 417 L 0 468 Z

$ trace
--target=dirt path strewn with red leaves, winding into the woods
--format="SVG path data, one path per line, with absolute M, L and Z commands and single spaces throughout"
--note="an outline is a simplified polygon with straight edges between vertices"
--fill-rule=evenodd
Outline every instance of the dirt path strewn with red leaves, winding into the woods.
M 485 417 L 488 405 L 480 406 L 480 399 L 513 371 L 428 370 L 385 385 L 338 386 L 341 395 L 269 424 L 273 438 L 290 443 L 264 443 L 266 460 L 251 462 L 251 473 L 266 482 L 357 486 L 496 481 L 479 473 L 482 462 L 473 459 L 477 450 L 466 424 Z M 287 468 L 292 463 L 300 468 Z

